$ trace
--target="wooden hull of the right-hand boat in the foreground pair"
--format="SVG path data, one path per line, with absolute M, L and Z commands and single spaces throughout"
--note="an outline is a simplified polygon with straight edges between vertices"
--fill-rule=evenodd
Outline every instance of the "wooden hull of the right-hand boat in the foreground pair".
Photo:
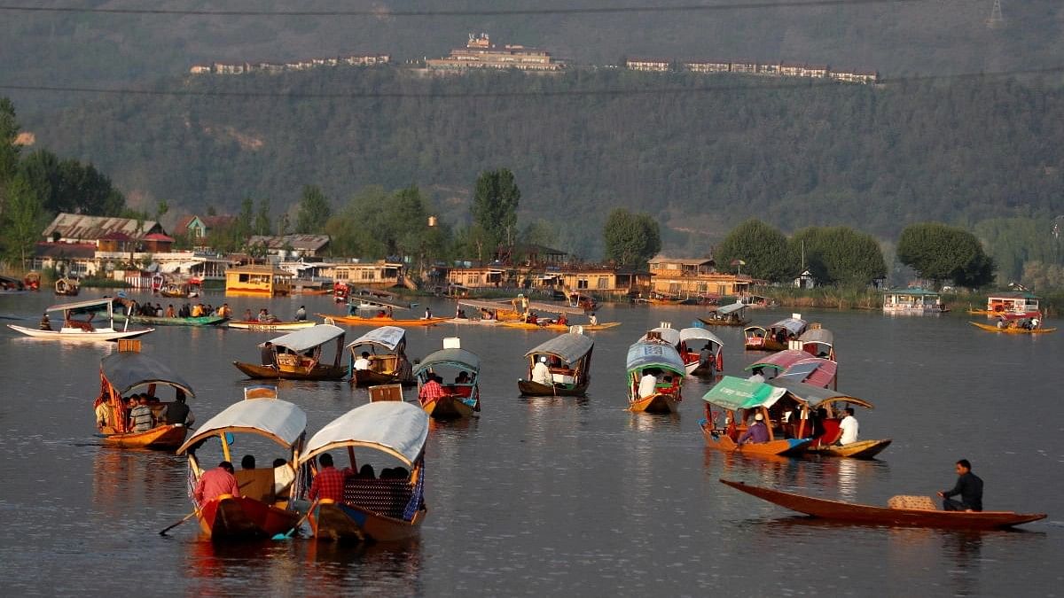
M 311 529 L 317 539 L 338 542 L 399 542 L 418 534 L 426 510 L 405 521 L 385 517 L 353 504 L 322 501 L 311 514 Z

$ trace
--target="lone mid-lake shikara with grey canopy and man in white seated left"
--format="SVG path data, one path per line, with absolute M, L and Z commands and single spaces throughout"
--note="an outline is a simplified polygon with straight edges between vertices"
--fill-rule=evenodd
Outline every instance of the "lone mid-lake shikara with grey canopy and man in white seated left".
M 537 345 L 525 353 L 529 360 L 528 376 L 517 381 L 517 388 L 523 396 L 583 397 L 592 383 L 594 348 L 594 340 L 573 332 L 559 334 Z M 532 370 L 541 359 L 547 360 L 551 376 L 550 384 L 532 380 Z

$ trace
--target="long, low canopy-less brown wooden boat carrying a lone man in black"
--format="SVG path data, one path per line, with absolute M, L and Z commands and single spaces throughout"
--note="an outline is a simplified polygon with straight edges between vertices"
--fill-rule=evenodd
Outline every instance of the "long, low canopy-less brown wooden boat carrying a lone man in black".
M 1011 511 L 937 511 L 931 509 L 892 509 L 872 504 L 855 504 L 839 500 L 813 498 L 783 491 L 755 486 L 743 482 L 720 480 L 739 492 L 745 492 L 762 500 L 779 504 L 785 509 L 804 513 L 813 517 L 867 524 L 875 526 L 907 526 L 920 528 L 952 528 L 987 530 L 1011 528 L 1045 519 L 1045 513 L 1013 513 Z

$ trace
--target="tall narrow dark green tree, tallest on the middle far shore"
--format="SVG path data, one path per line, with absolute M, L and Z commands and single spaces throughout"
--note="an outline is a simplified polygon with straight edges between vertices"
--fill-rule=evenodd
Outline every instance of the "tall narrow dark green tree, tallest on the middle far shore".
M 514 181 L 514 173 L 505 168 L 481 172 L 472 198 L 473 225 L 484 232 L 478 259 L 483 260 L 485 249 L 491 255 L 499 245 L 513 246 L 517 236 L 517 204 L 521 192 Z

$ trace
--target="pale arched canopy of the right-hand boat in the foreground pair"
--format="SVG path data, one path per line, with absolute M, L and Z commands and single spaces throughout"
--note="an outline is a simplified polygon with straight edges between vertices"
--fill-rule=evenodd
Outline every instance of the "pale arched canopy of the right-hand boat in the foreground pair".
M 330 421 L 306 444 L 299 463 L 339 447 L 369 447 L 413 465 L 429 437 L 429 414 L 412 403 L 378 401 Z

